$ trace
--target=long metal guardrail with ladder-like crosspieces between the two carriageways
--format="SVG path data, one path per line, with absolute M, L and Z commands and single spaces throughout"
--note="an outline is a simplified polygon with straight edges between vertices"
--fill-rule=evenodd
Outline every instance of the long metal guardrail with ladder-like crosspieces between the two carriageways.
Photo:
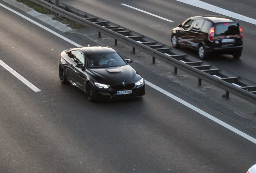
M 251 103 L 256 104 L 256 84 L 238 76 L 230 76 L 225 74 L 218 68 L 212 68 L 211 65 L 203 65 L 202 61 L 193 62 L 186 57 L 186 54 L 178 55 L 171 51 L 171 47 L 157 42 L 149 37 L 143 36 L 137 32 L 131 31 L 122 26 L 118 26 L 112 22 L 98 18 L 91 14 L 87 14 L 81 10 L 60 3 L 59 7 L 54 5 L 55 0 L 30 0 L 39 4 L 61 16 L 64 16 L 74 22 L 87 26 L 101 33 L 132 46 L 133 52 L 135 48 L 145 52 L 155 58 L 174 66 L 175 73 L 177 69 L 183 70 L 198 78 L 198 85 L 201 85 L 202 80 L 219 87 L 226 91 L 226 98 L 229 98 L 229 93 L 241 97 Z M 58 3 L 58 0 L 57 0 Z

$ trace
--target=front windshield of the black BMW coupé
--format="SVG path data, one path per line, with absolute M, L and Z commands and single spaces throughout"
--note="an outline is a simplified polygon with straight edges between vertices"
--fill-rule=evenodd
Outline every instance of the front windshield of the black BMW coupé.
M 114 66 L 124 66 L 126 62 L 118 53 L 104 53 L 87 55 L 88 68 L 107 68 Z

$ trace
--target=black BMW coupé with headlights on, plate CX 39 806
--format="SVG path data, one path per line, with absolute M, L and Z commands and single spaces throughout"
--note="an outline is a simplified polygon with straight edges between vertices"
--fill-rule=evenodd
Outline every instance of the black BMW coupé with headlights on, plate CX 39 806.
M 89 101 L 142 97 L 145 81 L 131 62 L 107 46 L 67 49 L 60 54 L 60 81 L 85 91 Z

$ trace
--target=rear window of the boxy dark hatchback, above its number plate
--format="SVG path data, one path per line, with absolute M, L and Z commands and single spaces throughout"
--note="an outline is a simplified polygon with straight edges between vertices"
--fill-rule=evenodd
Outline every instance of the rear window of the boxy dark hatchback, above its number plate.
M 214 34 L 216 35 L 236 35 L 240 34 L 237 23 L 221 23 L 216 25 Z

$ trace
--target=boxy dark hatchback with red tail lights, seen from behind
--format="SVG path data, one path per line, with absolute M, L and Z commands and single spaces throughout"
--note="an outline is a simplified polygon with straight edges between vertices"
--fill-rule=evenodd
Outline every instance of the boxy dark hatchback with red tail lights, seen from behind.
M 195 16 L 173 28 L 171 42 L 198 51 L 200 59 L 212 54 L 231 54 L 239 58 L 243 50 L 243 34 L 239 23 L 225 16 Z

